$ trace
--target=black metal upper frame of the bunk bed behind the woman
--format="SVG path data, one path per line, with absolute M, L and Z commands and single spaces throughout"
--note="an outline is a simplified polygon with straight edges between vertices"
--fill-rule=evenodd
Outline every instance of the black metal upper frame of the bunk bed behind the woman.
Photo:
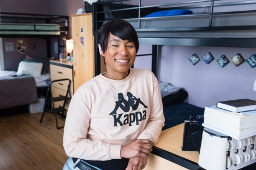
M 138 6 L 121 8 L 117 10 L 109 11 L 97 11 L 99 5 L 104 3 L 122 2 L 129 0 L 109 0 L 109 1 L 98 1 L 93 3 L 93 35 L 94 35 L 94 68 L 95 75 L 100 74 L 100 53 L 98 52 L 96 39 L 97 31 L 99 26 L 108 20 L 97 20 L 99 15 L 105 12 L 116 12 L 116 11 L 126 11 L 126 10 L 136 10 L 138 9 L 138 18 L 128 18 L 125 20 L 138 20 L 138 28 L 135 29 L 137 32 L 171 32 L 171 31 L 227 31 L 227 30 L 250 30 L 256 29 L 256 25 L 242 25 L 242 26 L 222 26 L 222 27 L 212 27 L 212 20 L 214 15 L 227 15 L 227 14 L 245 14 L 245 13 L 256 13 L 256 10 L 250 11 L 232 11 L 232 12 L 213 12 L 213 8 L 217 6 L 232 6 L 232 5 L 246 5 L 253 4 L 256 1 L 240 1 L 240 2 L 226 2 L 226 3 L 216 3 L 216 1 L 221 0 L 196 0 L 187 2 L 176 2 L 176 3 L 165 3 L 161 5 L 151 5 L 151 6 L 141 6 L 141 0 L 138 0 Z M 210 5 L 190 5 L 192 3 L 202 3 L 210 2 Z M 159 16 L 142 18 L 141 9 L 151 8 L 151 7 L 163 7 L 163 6 L 176 6 L 176 5 L 190 5 L 190 6 L 180 6 L 163 8 L 163 10 L 170 9 L 181 9 L 181 8 L 204 8 L 203 14 L 192 14 L 192 15 L 175 15 L 175 16 Z M 205 13 L 205 8 L 210 8 L 210 13 Z M 173 27 L 173 28 L 141 28 L 141 20 L 150 19 L 160 19 L 160 18 L 180 18 L 180 17 L 196 17 L 196 16 L 209 16 L 209 27 Z M 151 44 L 152 53 L 151 54 L 141 54 L 137 56 L 152 56 L 152 72 L 156 75 L 156 63 L 157 63 L 157 45 L 184 45 L 184 46 L 222 46 L 222 47 L 240 47 L 240 48 L 256 48 L 256 38 L 174 38 L 174 37 L 139 37 L 139 44 Z

